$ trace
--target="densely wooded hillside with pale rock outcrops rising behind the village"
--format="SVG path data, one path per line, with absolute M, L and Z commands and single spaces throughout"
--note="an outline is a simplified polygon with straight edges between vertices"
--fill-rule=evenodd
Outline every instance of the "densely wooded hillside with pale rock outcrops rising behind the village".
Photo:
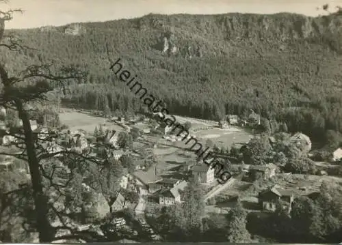
M 9 30 L 29 47 L 0 57 L 14 72 L 63 60 L 88 70 L 64 101 L 88 109 L 144 106 L 109 70 L 120 57 L 170 113 L 216 119 L 250 109 L 323 139 L 342 131 L 342 17 L 149 14 L 131 20 Z M 199 96 L 200 95 L 200 96 Z

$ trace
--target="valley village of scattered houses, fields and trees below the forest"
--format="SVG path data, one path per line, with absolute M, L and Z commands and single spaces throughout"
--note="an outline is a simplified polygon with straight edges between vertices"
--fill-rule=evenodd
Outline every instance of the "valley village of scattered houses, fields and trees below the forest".
M 5 109 L 1 113 L 3 118 L 8 116 Z M 120 165 L 120 170 L 109 169 L 115 175 L 116 180 L 111 180 L 115 183 L 105 182 L 109 189 L 115 186 L 114 197 L 110 190 L 96 191 L 88 178 L 83 177 L 79 183 L 79 188 L 95 196 L 96 201 L 91 204 L 93 215 L 95 220 L 102 221 L 65 221 L 77 231 L 91 230 L 113 241 L 168 240 L 159 218 L 166 207 L 185 202 L 189 186 L 200 188 L 202 197 L 197 201 L 204 205 L 201 219 L 223 217 L 239 203 L 260 222 L 276 212 L 279 203 L 282 210 L 290 213 L 295 198 L 317 196 L 322 183 L 342 183 L 341 148 L 322 160 L 315 154 L 308 136 L 301 132 L 289 134 L 286 124 L 269 122 L 254 111 L 246 118 L 226 115 L 219 121 L 176 116 L 189 135 L 212 148 L 216 160 L 232 173 L 224 184 L 218 183 L 215 168 L 205 164 L 196 155 L 196 149 L 189 150 L 191 144 L 185 144 L 183 134 L 158 124 L 153 113 L 118 116 L 60 109 L 58 117 L 31 120 L 31 130 L 42 139 L 44 134 L 51 135 L 46 126 L 55 122 L 49 120 L 57 119 L 63 127 L 53 141 L 42 141 L 40 145 L 53 156 L 53 166 L 70 173 L 70 162 L 64 162 L 70 152 L 92 160 L 111 159 L 114 167 Z M 12 152 L 18 152 L 13 149 L 14 141 L 17 140 L 13 136 L 3 136 L 1 147 L 12 145 Z M 18 171 L 29 181 L 29 168 L 23 161 L 6 156 L 0 169 L 3 173 Z M 59 182 L 66 182 L 62 176 L 59 175 Z M 23 179 L 22 182 L 25 184 Z M 56 197 L 56 208 L 65 210 L 64 201 Z

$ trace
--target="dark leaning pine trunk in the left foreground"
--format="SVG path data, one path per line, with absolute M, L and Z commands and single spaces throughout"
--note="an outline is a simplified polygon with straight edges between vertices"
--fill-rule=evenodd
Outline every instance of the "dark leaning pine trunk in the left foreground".
M 29 173 L 31 175 L 31 183 L 34 194 L 34 205 L 36 209 L 36 228 L 39 233 L 40 242 L 51 242 L 55 236 L 55 231 L 48 219 L 48 198 L 44 195 L 42 190 L 42 176 L 39 169 L 39 160 L 36 154 L 36 147 L 34 144 L 34 136 L 29 123 L 29 116 L 24 109 L 21 100 L 15 100 L 18 116 L 23 121 L 23 129 L 25 134 L 25 145 L 27 151 L 27 160 L 29 164 Z

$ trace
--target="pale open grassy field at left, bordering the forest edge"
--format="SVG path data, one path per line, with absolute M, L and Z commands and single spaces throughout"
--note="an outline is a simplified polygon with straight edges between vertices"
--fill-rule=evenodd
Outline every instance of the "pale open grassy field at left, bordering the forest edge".
M 78 111 L 65 111 L 64 113 L 60 113 L 60 120 L 62 124 L 66 124 L 69 126 L 70 130 L 85 130 L 87 132 L 94 132 L 95 127 L 98 127 L 100 124 L 103 124 L 103 129 L 106 130 L 123 130 L 122 127 L 107 122 L 103 117 L 95 117 L 88 113 L 81 113 Z

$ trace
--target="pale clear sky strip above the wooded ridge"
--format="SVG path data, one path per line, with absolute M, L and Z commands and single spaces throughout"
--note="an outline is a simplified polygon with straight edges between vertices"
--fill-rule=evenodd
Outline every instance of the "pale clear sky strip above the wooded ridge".
M 274 14 L 294 12 L 317 16 L 317 7 L 331 9 L 342 0 L 9 0 L 0 10 L 21 8 L 7 28 L 66 25 L 75 22 L 135 18 L 145 14 L 222 14 L 228 12 Z

